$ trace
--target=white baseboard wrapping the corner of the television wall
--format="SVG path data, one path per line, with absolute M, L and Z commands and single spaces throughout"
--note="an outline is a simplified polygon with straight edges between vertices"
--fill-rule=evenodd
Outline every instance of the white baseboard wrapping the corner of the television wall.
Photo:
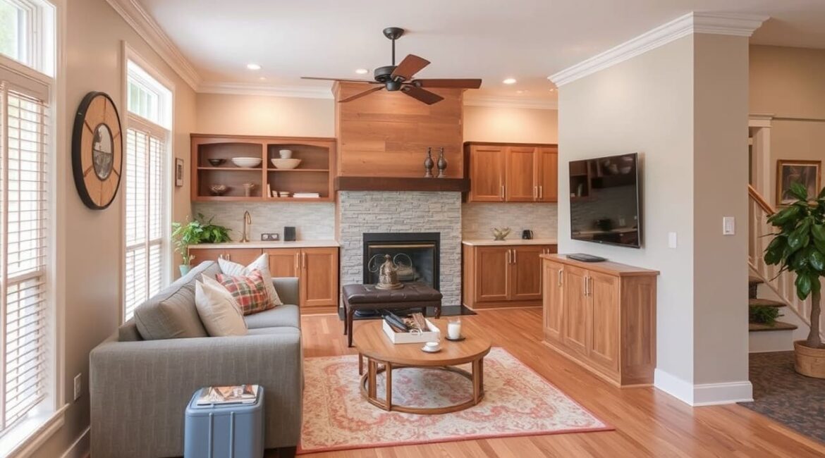
M 656 369 L 653 372 L 653 386 L 694 407 L 735 404 L 753 400 L 753 386 L 750 381 L 694 385 L 661 369 Z

